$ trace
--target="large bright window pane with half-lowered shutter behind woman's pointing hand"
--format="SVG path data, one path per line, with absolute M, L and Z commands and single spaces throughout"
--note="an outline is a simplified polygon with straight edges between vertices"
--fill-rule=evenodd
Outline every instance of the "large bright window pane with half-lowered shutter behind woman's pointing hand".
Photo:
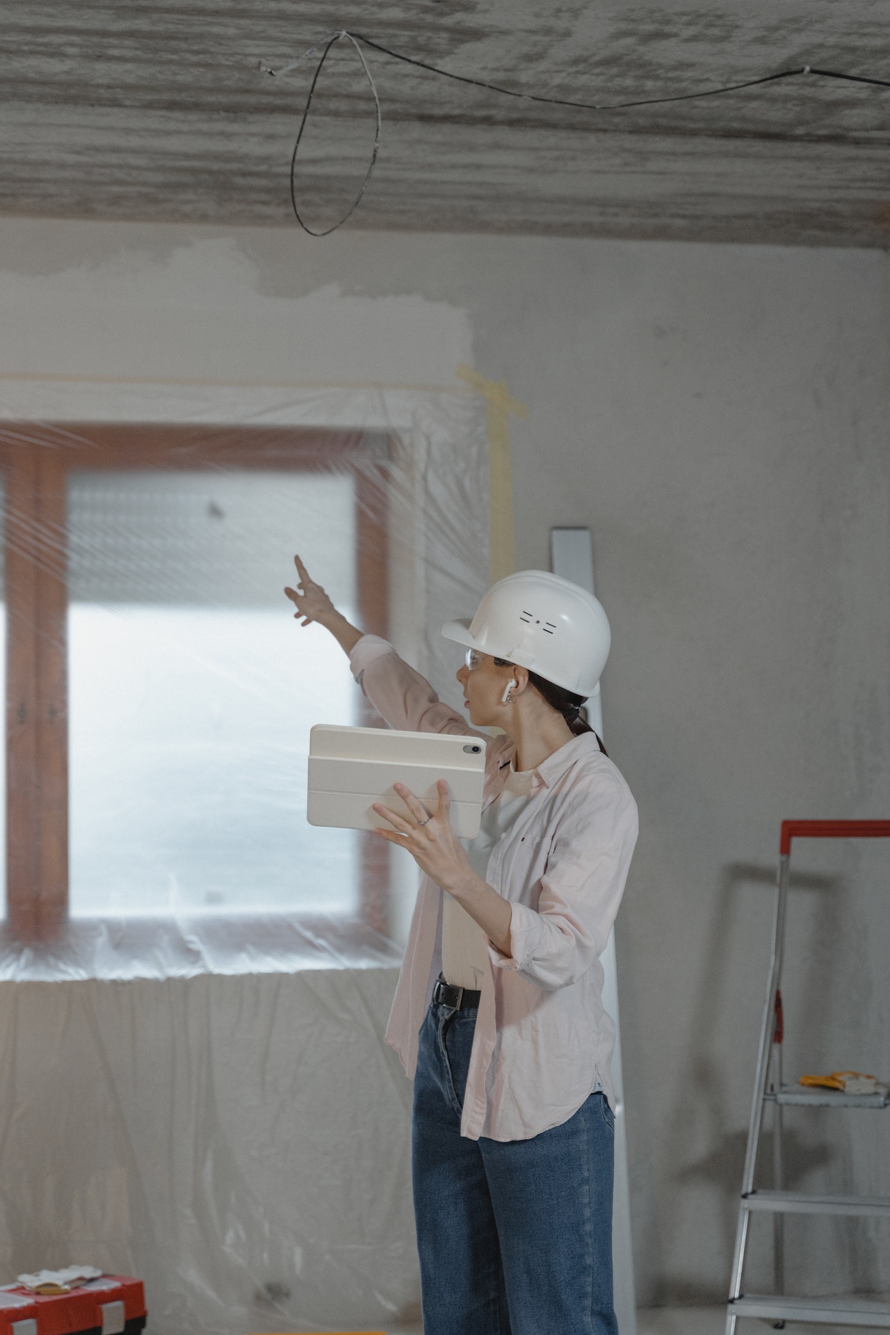
M 72 478 L 72 916 L 358 910 L 355 834 L 306 822 L 355 685 L 282 594 L 299 542 L 351 614 L 354 511 L 348 475 Z

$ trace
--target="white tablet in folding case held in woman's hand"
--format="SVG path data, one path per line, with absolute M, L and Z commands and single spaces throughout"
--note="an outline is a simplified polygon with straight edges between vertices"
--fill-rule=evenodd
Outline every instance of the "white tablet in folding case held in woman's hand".
M 475 838 L 486 778 L 484 737 L 316 724 L 310 732 L 306 814 L 310 825 L 370 830 L 386 826 L 372 810 L 374 802 L 383 802 L 414 820 L 392 785 L 404 784 L 435 812 L 439 778 L 451 789 L 451 828 L 460 838 Z

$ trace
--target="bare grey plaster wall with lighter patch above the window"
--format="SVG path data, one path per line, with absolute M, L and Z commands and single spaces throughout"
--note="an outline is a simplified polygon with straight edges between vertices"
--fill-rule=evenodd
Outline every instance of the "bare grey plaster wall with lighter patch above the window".
M 459 360 L 527 403 L 518 563 L 590 525 L 640 806 L 618 924 L 639 1299 L 719 1299 L 779 821 L 887 816 L 886 255 L 4 220 L 0 311 L 7 417 L 53 376 L 458 390 Z M 791 1077 L 890 1076 L 889 864 L 795 848 Z M 885 1120 L 789 1119 L 790 1184 L 890 1193 Z M 890 1287 L 886 1227 L 795 1220 L 789 1286 Z

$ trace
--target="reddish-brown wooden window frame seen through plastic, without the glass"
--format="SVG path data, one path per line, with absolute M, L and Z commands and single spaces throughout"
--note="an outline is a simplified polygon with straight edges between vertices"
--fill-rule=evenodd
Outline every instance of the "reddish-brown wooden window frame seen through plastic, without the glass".
M 7 922 L 20 943 L 64 934 L 68 914 L 68 474 L 105 470 L 223 469 L 322 471 L 356 477 L 356 593 L 362 627 L 387 634 L 386 453 L 380 435 L 296 427 L 7 423 L 0 431 L 5 481 L 7 602 Z M 283 614 L 286 614 L 283 607 Z M 379 724 L 362 698 L 360 722 Z M 358 937 L 386 932 L 388 845 L 360 834 Z M 307 918 L 307 914 L 287 914 Z M 200 914 L 227 936 L 226 914 Z M 268 921 L 274 914 L 258 914 Z M 145 922 L 156 936 L 157 920 Z M 239 932 L 248 924 L 239 916 Z M 131 933 L 139 937 L 139 932 Z

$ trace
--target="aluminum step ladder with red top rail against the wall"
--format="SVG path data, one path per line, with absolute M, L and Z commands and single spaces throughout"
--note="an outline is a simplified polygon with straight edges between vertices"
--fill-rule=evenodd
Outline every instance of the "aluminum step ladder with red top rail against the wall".
M 782 1081 L 782 953 L 785 916 L 789 897 L 789 864 L 793 838 L 890 838 L 890 821 L 782 821 L 779 841 L 779 876 L 777 882 L 775 920 L 773 924 L 773 959 L 766 989 L 766 1007 L 761 1029 L 747 1153 L 742 1179 L 733 1279 L 726 1308 L 726 1335 L 735 1335 L 741 1316 L 786 1322 L 813 1322 L 837 1326 L 870 1326 L 890 1328 L 890 1303 L 853 1298 L 789 1298 L 785 1295 L 785 1215 L 871 1215 L 890 1216 L 890 1196 L 810 1196 L 783 1189 L 782 1109 L 805 1108 L 886 1108 L 881 1093 L 843 1093 L 839 1089 L 786 1085 Z M 771 1073 L 770 1073 L 771 1068 Z M 773 1104 L 773 1191 L 757 1191 L 754 1168 L 766 1104 Z M 751 1215 L 773 1215 L 774 1294 L 745 1294 L 742 1275 Z

